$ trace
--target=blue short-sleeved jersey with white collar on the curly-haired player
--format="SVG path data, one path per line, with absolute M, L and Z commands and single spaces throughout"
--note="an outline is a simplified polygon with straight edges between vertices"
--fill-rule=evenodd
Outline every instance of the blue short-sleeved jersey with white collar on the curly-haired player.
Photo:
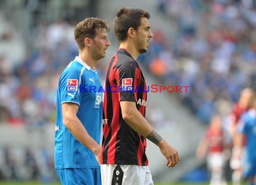
M 57 88 L 55 125 L 55 168 L 99 167 L 93 152 L 87 149 L 63 125 L 62 104 L 79 106 L 77 117 L 88 134 L 99 144 L 102 122 L 102 91 L 97 71 L 75 57 L 63 71 Z

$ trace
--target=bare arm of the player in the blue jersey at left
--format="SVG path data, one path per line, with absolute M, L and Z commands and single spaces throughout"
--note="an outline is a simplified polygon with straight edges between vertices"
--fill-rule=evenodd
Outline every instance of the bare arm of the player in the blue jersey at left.
M 63 124 L 80 143 L 93 152 L 97 162 L 100 164 L 101 147 L 89 136 L 83 124 L 76 116 L 78 108 L 78 105 L 74 103 L 62 104 Z

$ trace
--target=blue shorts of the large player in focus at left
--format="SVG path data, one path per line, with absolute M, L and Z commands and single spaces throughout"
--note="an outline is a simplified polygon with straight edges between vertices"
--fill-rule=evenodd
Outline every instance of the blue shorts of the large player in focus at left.
M 101 168 L 57 169 L 62 185 L 102 185 Z

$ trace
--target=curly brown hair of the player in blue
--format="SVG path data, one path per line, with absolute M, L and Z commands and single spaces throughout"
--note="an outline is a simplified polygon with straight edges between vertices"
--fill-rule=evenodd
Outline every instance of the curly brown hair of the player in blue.
M 76 25 L 74 35 L 79 49 L 84 49 L 85 38 L 95 38 L 97 29 L 106 32 L 109 32 L 110 30 L 107 22 L 100 18 L 86 18 Z

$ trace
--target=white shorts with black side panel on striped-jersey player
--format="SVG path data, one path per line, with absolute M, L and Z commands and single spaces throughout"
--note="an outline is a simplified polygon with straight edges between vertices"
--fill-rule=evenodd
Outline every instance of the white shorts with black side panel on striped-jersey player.
M 102 185 L 154 185 L 148 166 L 101 164 L 101 175 Z

